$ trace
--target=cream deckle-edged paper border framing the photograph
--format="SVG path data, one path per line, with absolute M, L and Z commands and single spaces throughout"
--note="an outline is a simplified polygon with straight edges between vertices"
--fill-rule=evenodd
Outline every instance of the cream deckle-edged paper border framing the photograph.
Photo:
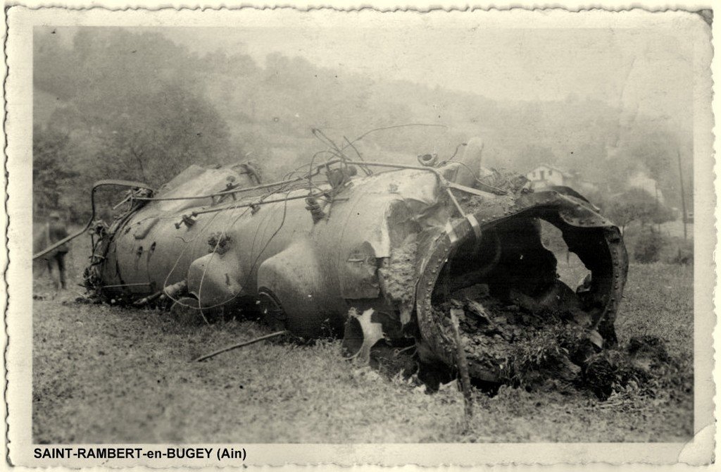
M 262 5 L 259 5 L 262 6 Z M 429 5 L 420 6 L 427 9 Z M 633 27 L 666 25 L 671 17 L 677 27 L 688 27 L 697 38 L 694 43 L 694 439 L 687 443 L 543 443 L 543 444 L 253 444 L 246 445 L 252 466 L 284 464 L 338 465 L 379 464 L 400 466 L 417 464 L 438 466 L 482 466 L 485 464 L 559 464 L 559 463 L 648 463 L 706 464 L 715 449 L 715 369 L 717 345 L 715 300 L 717 213 L 715 175 L 714 111 L 712 105 L 712 31 L 691 12 L 643 10 L 606 12 L 602 9 L 569 14 L 549 9 L 542 14 L 532 9 L 431 9 L 425 13 L 403 11 L 381 13 L 383 6 L 372 6 L 356 15 L 357 25 L 371 26 L 378 16 L 394 15 L 393 21 L 436 22 L 448 27 L 472 22 L 495 27 Z M 445 6 L 444 6 L 445 7 Z M 345 7 L 342 7 L 342 9 Z M 447 11 L 450 9 L 451 11 Z M 85 467 L 103 464 L 102 460 L 37 460 L 32 455 L 32 32 L 38 25 L 86 26 L 280 26 L 300 24 L 308 17 L 332 24 L 348 12 L 338 9 L 297 8 L 262 9 L 126 9 L 102 7 L 71 9 L 63 7 L 6 6 L 6 218 L 7 258 L 5 281 L 8 285 L 6 320 L 6 414 L 9 463 L 16 466 Z M 668 15 L 668 16 L 667 16 Z M 713 68 L 717 69 L 717 59 Z M 713 110 L 712 110 L 713 107 Z M 9 301 L 8 301 L 9 300 Z M 76 445 L 79 446 L 79 445 Z M 143 445 L 138 445 L 143 446 Z M 144 445 L 158 448 L 160 445 Z M 202 447 L 203 445 L 198 445 Z M 209 446 L 209 445 L 208 445 Z M 218 445 L 212 445 L 218 447 Z M 231 445 L 229 445 L 231 446 Z M 148 466 L 164 468 L 183 465 L 177 460 L 112 460 L 108 466 Z M 193 466 L 218 466 L 216 460 L 193 461 Z

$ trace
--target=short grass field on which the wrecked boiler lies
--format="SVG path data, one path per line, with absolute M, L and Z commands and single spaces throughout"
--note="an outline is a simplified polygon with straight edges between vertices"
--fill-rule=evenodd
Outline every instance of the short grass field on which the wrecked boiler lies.
M 74 242 L 71 280 L 88 255 Z M 560 267 L 563 269 L 563 267 Z M 693 268 L 632 265 L 621 342 L 651 335 L 690 376 Z M 688 440 L 693 392 L 648 395 L 501 388 L 476 396 L 469 430 L 452 384 L 428 395 L 399 377 L 342 359 L 340 342 L 255 344 L 188 362 L 267 328 L 248 321 L 189 328 L 167 313 L 51 297 L 37 276 L 33 306 L 33 437 L 73 442 L 619 442 Z M 75 291 L 76 290 L 76 291 Z

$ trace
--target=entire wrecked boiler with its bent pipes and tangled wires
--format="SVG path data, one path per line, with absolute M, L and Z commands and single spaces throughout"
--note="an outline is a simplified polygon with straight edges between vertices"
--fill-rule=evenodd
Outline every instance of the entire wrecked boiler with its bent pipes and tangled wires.
M 522 175 L 481 167 L 479 139 L 443 162 L 366 160 L 354 144 L 373 131 L 344 136 L 341 147 L 314 129 L 328 149 L 273 183 L 249 163 L 191 165 L 157 191 L 99 181 L 92 218 L 61 242 L 91 233 L 84 283 L 98 300 L 172 304 L 177 318 L 205 322 L 257 313 L 274 335 L 311 338 L 331 327 L 366 361 L 383 339 L 415 345 L 422 365 L 456 366 L 462 344 L 469 375 L 495 382 L 510 344 L 559 320 L 593 349 L 616 346 L 627 253 L 595 206 L 570 188 L 533 191 Z M 322 154 L 331 157 L 316 164 Z M 95 220 L 104 185 L 130 188 L 110 226 Z M 578 289 L 559 280 L 539 220 L 588 269 Z

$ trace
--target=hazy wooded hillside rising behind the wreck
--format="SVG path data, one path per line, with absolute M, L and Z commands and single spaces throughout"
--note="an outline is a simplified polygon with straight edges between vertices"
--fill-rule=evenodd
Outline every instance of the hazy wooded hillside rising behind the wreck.
M 606 102 L 573 95 L 499 102 L 280 53 L 265 64 L 234 51 L 200 55 L 158 32 L 108 27 L 80 28 L 70 43 L 40 28 L 33 77 L 37 214 L 61 208 L 84 219 L 94 180 L 159 185 L 191 163 L 251 159 L 268 178 L 280 178 L 325 148 L 311 128 L 342 142 L 405 123 L 436 126 L 373 132 L 359 141 L 359 152 L 414 162 L 426 152 L 450 157 L 461 142 L 482 136 L 488 167 L 525 173 L 547 162 L 606 194 L 643 172 L 680 206 L 678 151 L 691 188 L 690 136 L 658 117 L 629 121 Z

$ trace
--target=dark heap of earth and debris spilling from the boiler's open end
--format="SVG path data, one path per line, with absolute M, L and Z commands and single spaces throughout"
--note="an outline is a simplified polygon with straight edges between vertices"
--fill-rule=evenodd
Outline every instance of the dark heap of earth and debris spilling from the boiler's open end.
M 476 383 L 486 393 L 493 395 L 500 385 L 510 385 L 529 392 L 588 391 L 608 401 L 629 393 L 634 398 L 681 398 L 693 391 L 693 367 L 668 354 L 665 341 L 657 336 L 633 336 L 601 349 L 597 333 L 589 335 L 578 323 L 572 302 L 539 310 L 522 297 L 513 303 L 501 302 L 482 288 L 456 293 L 458 298 L 436 310 L 438 316 L 451 308 L 460 314 L 469 365 L 474 372 L 491 372 L 497 378 L 495 383 Z M 402 371 L 408 377 L 415 372 L 409 367 L 412 354 L 381 343 L 373 349 L 371 360 L 385 373 Z M 428 382 L 422 373 L 420 377 L 429 391 L 455 378 L 432 377 Z M 434 385 L 434 380 L 440 382 Z

